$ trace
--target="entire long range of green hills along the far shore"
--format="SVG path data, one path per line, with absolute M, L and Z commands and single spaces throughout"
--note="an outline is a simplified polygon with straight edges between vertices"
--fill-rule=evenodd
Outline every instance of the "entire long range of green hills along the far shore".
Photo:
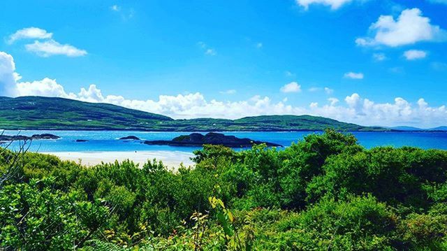
M 1 129 L 141 131 L 390 131 L 309 115 L 265 115 L 238 120 L 170 117 L 107 103 L 41 96 L 0 97 Z

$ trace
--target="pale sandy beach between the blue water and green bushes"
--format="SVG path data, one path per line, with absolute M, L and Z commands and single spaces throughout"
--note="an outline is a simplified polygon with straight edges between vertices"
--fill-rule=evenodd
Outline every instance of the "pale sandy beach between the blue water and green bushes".
M 115 162 L 115 160 L 122 162 L 130 159 L 133 162 L 145 164 L 147 160 L 152 159 L 161 160 L 164 165 L 170 168 L 178 168 L 180 163 L 184 166 L 193 166 L 190 157 L 194 155 L 189 152 L 172 152 L 172 151 L 134 151 L 134 152 L 41 152 L 43 154 L 55 155 L 63 160 L 71 160 L 80 162 L 83 165 L 94 166 L 97 164 Z

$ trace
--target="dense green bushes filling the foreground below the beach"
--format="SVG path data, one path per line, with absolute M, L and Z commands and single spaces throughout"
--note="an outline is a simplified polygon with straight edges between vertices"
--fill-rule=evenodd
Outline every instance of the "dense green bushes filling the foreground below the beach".
M 206 145 L 196 168 L 86 168 L 1 150 L 5 250 L 446 250 L 447 152 L 326 131 Z

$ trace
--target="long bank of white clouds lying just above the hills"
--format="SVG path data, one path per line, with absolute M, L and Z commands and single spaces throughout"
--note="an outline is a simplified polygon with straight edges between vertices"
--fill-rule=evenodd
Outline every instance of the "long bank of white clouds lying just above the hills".
M 275 102 L 268 96 L 253 96 L 242 101 L 207 100 L 200 92 L 160 95 L 158 99 L 126 99 L 124 96 L 104 95 L 96 85 L 81 88 L 78 94 L 67 93 L 56 80 L 44 78 L 32 82 L 18 82 L 13 57 L 0 52 L 0 96 L 58 96 L 80 101 L 112 103 L 150 113 L 159 113 L 174 118 L 223 117 L 235 119 L 254 115 L 317 115 L 335 120 L 364 125 L 413 125 L 416 127 L 437 127 L 447 124 L 447 107 L 430 106 L 425 99 L 415 103 L 397 97 L 390 103 L 376 103 L 353 93 L 346 96 L 344 103 L 335 97 L 328 104 L 320 106 L 312 102 L 309 106 L 291 106 L 287 99 Z M 298 85 L 298 84 L 297 84 Z M 5 92 L 6 90 L 6 92 Z

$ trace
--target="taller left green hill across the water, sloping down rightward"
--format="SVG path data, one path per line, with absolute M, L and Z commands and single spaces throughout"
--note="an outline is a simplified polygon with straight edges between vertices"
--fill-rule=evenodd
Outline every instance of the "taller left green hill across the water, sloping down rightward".
M 173 119 L 106 103 L 41 96 L 0 99 L 3 129 L 144 129 L 169 120 Z

